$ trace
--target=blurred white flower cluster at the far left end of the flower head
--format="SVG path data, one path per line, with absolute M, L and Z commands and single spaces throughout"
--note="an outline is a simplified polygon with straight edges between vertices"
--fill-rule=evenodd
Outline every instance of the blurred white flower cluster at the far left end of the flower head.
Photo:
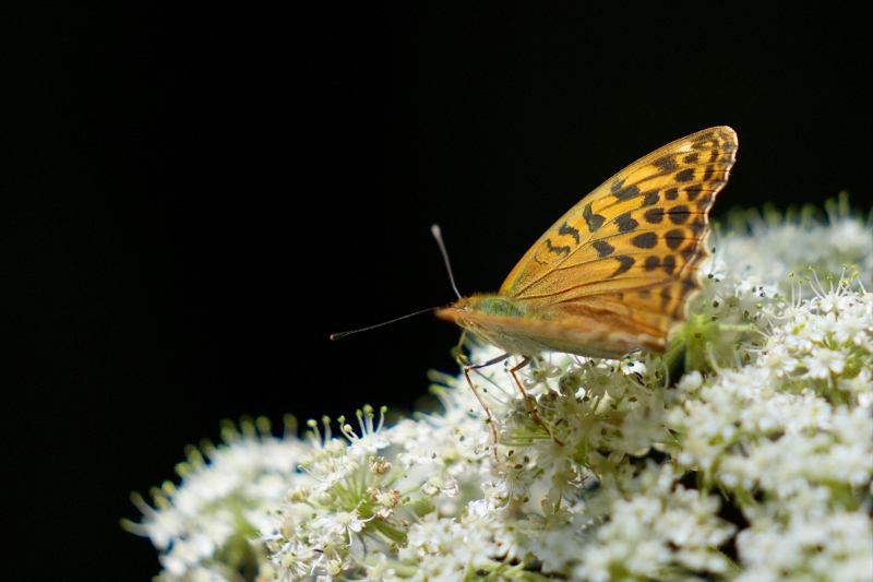
M 271 435 L 264 418 L 243 420 L 241 429 L 226 424 L 225 444 L 203 444 L 208 462 L 189 448 L 188 462 L 176 467 L 182 485 L 153 489 L 154 508 L 133 496 L 143 520 L 122 526 L 148 536 L 160 550 L 162 582 L 236 580 L 246 563 L 266 561 L 265 548 L 250 539 L 271 526 L 267 513 L 282 503 L 309 447 L 295 437 L 291 417 L 284 439 Z

